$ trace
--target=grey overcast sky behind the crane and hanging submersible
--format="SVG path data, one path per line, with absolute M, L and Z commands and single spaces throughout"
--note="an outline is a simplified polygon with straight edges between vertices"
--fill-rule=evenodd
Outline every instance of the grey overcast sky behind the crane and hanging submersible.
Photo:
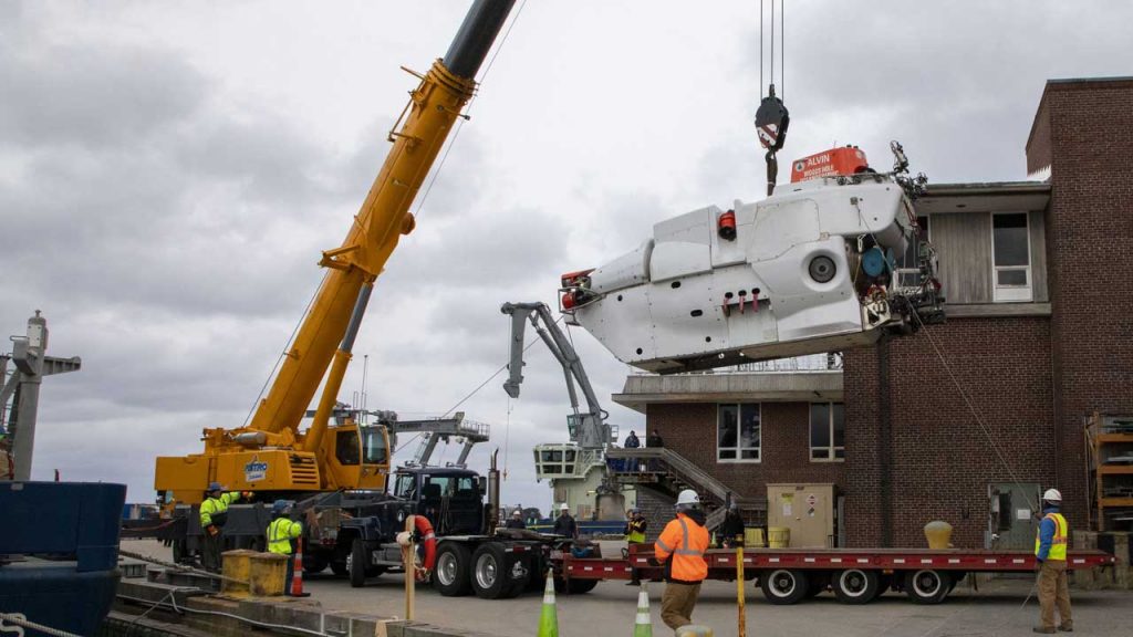
M 33 477 L 150 501 L 155 456 L 244 422 L 384 159 L 399 67 L 427 69 L 467 6 L 0 0 L 0 332 L 40 308 L 51 353 L 83 357 L 44 384 Z M 897 138 L 936 182 L 1023 179 L 1043 82 L 1128 75 L 1130 24 L 1101 1 L 791 2 L 784 155 L 853 143 L 886 167 Z M 527 2 L 343 398 L 365 355 L 370 408 L 441 415 L 505 363 L 502 303 L 553 305 L 560 273 L 655 221 L 759 198 L 759 51 L 753 1 Z M 599 397 L 620 391 L 628 368 L 573 337 Z M 565 440 L 566 394 L 542 346 L 526 376 L 460 409 L 493 427 L 474 462 L 501 448 L 504 499 L 546 507 L 530 448 Z

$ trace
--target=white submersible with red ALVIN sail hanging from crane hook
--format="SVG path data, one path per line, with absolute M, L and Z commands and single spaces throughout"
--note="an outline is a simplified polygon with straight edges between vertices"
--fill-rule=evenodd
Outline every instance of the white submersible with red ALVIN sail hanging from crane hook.
M 889 173 L 853 148 L 860 161 L 760 202 L 656 223 L 637 249 L 563 275 L 568 323 L 623 363 L 666 374 L 841 350 L 943 322 L 936 254 L 913 209 L 927 179 L 909 177 L 901 145 L 891 147 Z M 915 263 L 897 275 L 897 255 L 910 253 Z

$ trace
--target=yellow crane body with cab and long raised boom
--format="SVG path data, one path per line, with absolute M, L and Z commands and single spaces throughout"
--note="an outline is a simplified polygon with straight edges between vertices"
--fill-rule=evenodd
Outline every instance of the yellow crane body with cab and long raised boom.
M 409 206 L 461 110 L 514 0 L 476 0 L 444 58 L 425 75 L 393 126 L 381 172 L 346 240 L 323 253 L 318 294 L 252 422 L 204 430 L 202 453 L 157 458 L 155 489 L 165 501 L 198 503 L 210 482 L 275 496 L 339 489 L 382 490 L 390 468 L 384 426 L 351 418 L 330 425 L 374 280 L 401 235 L 414 230 Z M 408 70 L 408 69 L 407 69 Z M 327 372 L 327 368 L 330 370 Z M 323 377 L 314 422 L 299 431 Z

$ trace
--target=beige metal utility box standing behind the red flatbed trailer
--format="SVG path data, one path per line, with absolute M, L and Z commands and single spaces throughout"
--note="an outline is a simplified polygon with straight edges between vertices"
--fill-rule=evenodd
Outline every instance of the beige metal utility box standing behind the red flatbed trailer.
M 790 528 L 792 549 L 833 549 L 836 503 L 833 484 L 768 484 L 767 526 Z

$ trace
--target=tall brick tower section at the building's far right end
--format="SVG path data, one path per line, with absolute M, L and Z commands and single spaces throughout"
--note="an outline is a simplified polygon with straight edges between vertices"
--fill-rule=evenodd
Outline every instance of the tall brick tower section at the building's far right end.
M 1050 164 L 1054 460 L 1077 525 L 1082 418 L 1133 413 L 1133 80 L 1048 83 L 1026 150 L 1029 163 Z

